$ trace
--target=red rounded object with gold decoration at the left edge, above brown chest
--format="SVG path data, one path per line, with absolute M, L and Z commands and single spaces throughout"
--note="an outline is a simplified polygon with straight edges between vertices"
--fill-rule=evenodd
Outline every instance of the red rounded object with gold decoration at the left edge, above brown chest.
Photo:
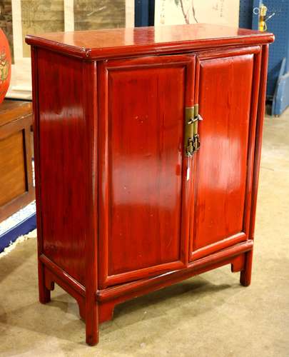
M 0 104 L 4 101 L 11 79 L 11 53 L 4 32 L 0 29 Z

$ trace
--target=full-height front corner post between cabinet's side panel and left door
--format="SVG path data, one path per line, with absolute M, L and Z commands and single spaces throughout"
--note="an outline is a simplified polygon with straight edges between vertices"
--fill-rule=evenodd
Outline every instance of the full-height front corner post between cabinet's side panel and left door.
M 96 62 L 83 63 L 83 119 L 86 123 L 85 158 L 83 171 L 86 173 L 86 246 L 85 246 L 85 320 L 86 343 L 98 342 L 98 88 Z M 90 95 L 88 96 L 87 93 Z M 80 305 L 80 311 L 82 310 Z M 83 317 L 83 316 L 82 316 Z M 84 317 L 83 317 L 84 318 Z

